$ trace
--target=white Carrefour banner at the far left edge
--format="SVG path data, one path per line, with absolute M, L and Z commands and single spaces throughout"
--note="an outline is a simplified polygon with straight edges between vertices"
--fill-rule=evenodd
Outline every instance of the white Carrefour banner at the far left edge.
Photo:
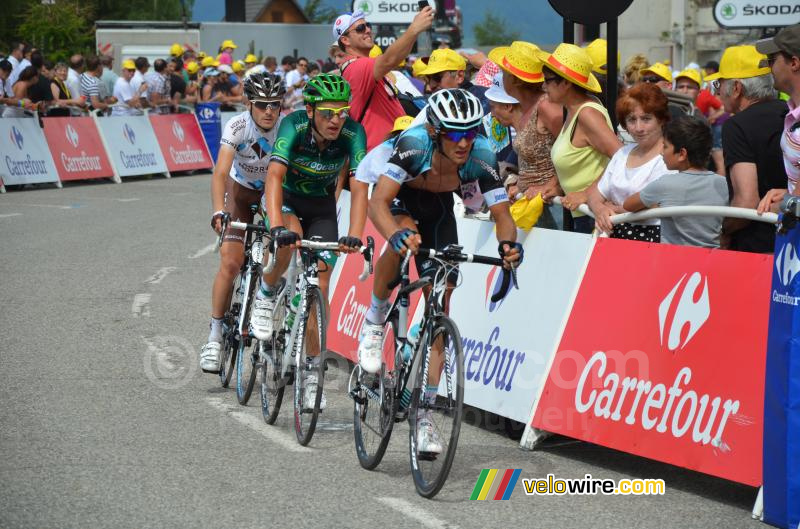
M 39 120 L 0 119 L 0 138 L 0 178 L 5 185 L 58 182 L 58 171 Z

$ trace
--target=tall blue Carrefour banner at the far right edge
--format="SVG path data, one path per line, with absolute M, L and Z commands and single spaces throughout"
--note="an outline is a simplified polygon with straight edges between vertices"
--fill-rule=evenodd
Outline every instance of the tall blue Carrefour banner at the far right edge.
M 800 225 L 775 239 L 764 394 L 764 521 L 800 526 Z

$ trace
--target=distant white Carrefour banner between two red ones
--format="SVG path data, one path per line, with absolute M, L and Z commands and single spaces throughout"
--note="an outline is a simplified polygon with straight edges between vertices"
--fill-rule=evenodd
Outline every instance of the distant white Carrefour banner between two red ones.
M 97 126 L 105 139 L 111 163 L 120 176 L 167 172 L 147 116 L 103 117 L 98 118 Z

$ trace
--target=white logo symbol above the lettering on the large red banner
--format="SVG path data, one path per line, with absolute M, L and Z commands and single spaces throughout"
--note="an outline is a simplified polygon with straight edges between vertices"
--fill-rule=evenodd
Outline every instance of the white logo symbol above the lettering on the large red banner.
M 694 272 L 688 280 L 686 276 L 683 274 L 658 306 L 661 345 L 666 345 L 670 351 L 686 347 L 711 315 L 708 278 L 704 278 L 700 272 Z M 701 283 L 702 289 L 698 288 Z M 687 325 L 689 328 L 684 333 Z

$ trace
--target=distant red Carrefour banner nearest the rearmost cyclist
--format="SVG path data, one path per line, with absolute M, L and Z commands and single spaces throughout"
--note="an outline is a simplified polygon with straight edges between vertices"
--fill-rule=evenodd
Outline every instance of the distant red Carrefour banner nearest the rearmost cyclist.
M 214 167 L 194 114 L 151 114 L 149 117 L 170 172 Z

